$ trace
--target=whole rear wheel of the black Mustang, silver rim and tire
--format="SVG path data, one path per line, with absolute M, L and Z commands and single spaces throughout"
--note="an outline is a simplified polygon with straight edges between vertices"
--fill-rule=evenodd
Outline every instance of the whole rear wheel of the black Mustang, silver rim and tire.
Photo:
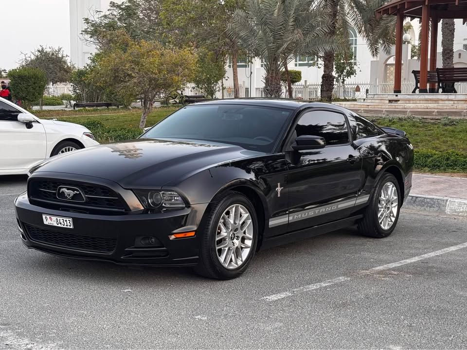
M 379 179 L 364 218 L 359 222 L 360 233 L 375 238 L 389 236 L 399 219 L 399 210 L 399 184 L 394 175 L 386 173 Z

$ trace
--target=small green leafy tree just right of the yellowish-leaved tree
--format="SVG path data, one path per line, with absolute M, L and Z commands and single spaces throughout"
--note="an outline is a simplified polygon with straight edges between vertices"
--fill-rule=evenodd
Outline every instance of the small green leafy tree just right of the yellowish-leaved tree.
M 193 83 L 196 88 L 203 90 L 205 95 L 214 98 L 219 90 L 219 81 L 225 75 L 223 60 L 216 59 L 215 54 L 206 51 L 198 51 L 198 59 L 195 67 Z

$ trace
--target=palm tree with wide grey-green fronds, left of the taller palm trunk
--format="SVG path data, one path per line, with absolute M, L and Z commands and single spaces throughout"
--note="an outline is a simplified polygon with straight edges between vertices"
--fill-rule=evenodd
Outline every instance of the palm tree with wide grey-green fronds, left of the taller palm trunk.
M 236 9 L 230 26 L 245 50 L 263 59 L 264 92 L 282 94 L 281 70 L 296 54 L 338 50 L 329 32 L 330 18 L 316 7 L 316 0 L 247 0 Z

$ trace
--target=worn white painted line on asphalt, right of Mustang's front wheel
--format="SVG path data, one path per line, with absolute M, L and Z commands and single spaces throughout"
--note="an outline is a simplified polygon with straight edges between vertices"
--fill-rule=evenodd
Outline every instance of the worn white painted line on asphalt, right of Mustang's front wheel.
M 303 287 L 291 289 L 291 290 L 286 291 L 286 292 L 273 294 L 273 295 L 270 295 L 270 296 L 267 296 L 267 297 L 262 297 L 261 299 L 265 299 L 266 301 L 275 301 L 275 300 L 279 300 L 279 299 L 282 299 L 282 298 L 285 298 L 285 297 L 291 297 L 291 296 L 293 296 L 295 294 L 300 294 L 300 293 L 311 291 L 313 289 L 318 289 L 318 288 L 326 287 L 326 286 L 329 286 L 329 285 L 332 285 L 332 284 L 341 283 L 341 282 L 351 280 L 351 279 L 359 277 L 359 276 L 371 275 L 371 274 L 373 274 L 375 272 L 390 270 L 390 269 L 398 267 L 398 266 L 407 265 L 407 264 L 410 264 L 412 262 L 418 262 L 420 260 L 425 260 L 425 259 L 428 259 L 428 258 L 435 257 L 437 255 L 450 253 L 452 251 L 462 249 L 462 248 L 467 248 L 467 242 L 466 243 L 461 243 L 459 245 L 453 245 L 453 246 L 450 246 L 448 248 L 444 248 L 444 249 L 441 249 L 441 250 L 436 250 L 436 251 L 433 251 L 431 253 L 418 255 L 418 256 L 410 258 L 410 259 L 404 259 L 404 260 L 401 260 L 401 261 L 398 261 L 398 262 L 392 262 L 392 263 L 389 263 L 389 264 L 386 264 L 386 265 L 373 267 L 373 268 L 368 269 L 368 270 L 359 271 L 359 272 L 351 274 L 349 276 L 341 276 L 341 277 L 337 277 L 337 278 L 332 279 L 332 280 L 325 280 L 323 282 L 309 284 L 309 285 L 306 285 L 306 286 L 303 286 Z

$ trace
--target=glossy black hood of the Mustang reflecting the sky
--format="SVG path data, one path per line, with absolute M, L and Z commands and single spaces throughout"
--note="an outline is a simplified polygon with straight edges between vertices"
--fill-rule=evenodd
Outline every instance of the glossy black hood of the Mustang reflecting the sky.
M 101 177 L 124 188 L 155 188 L 211 165 L 258 155 L 240 146 L 207 141 L 130 140 L 97 145 L 52 157 L 34 173 Z

